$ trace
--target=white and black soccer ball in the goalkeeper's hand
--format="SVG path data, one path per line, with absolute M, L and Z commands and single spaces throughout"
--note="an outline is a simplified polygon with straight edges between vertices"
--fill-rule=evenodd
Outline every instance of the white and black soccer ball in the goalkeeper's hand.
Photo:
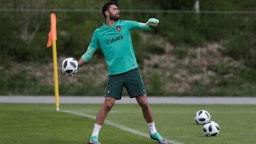
M 73 76 L 78 72 L 78 61 L 73 57 L 65 58 L 61 64 L 61 70 L 64 74 Z

